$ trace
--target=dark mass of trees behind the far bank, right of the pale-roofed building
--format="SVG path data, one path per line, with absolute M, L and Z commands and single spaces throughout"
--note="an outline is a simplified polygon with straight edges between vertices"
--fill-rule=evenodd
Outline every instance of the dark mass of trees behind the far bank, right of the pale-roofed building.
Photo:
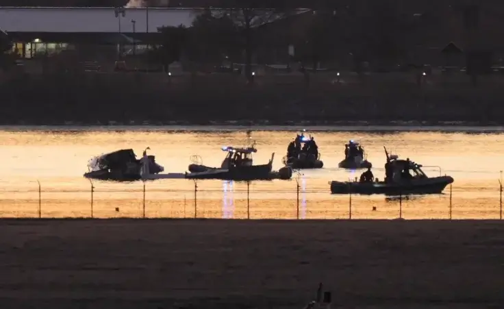
M 236 1 L 231 9 L 207 9 L 191 27 L 158 29 L 162 42 L 155 51 L 156 59 L 164 64 L 182 56 L 205 64 L 240 62 L 245 64 L 244 75 L 251 78 L 253 55 L 262 48 L 288 53 L 291 46 L 290 61 L 312 67 L 351 55 L 358 70 L 363 62 L 406 60 L 408 49 L 418 43 L 414 38 L 418 21 L 401 14 L 392 1 L 372 3 L 358 12 L 351 7 L 303 11 L 277 5 L 273 9 L 268 1 L 257 8 L 257 2 L 254 6 L 244 5 L 246 2 Z

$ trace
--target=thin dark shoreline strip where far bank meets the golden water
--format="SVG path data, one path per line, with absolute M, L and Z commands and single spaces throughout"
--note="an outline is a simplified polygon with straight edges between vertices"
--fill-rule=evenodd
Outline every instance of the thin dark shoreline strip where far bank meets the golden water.
M 0 123 L 0 130 L 93 130 L 112 129 L 118 131 L 240 131 L 240 130 L 283 130 L 299 131 L 342 131 L 342 132 L 504 132 L 503 123 L 483 121 L 54 121 L 51 123 L 18 121 Z

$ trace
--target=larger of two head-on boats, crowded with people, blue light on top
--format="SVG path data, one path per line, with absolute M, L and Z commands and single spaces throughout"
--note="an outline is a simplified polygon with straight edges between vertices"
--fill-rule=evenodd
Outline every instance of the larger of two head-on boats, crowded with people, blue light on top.
M 320 160 L 318 145 L 313 136 L 305 136 L 305 130 L 297 134 L 287 147 L 287 155 L 283 164 L 292 169 L 321 169 L 324 162 Z

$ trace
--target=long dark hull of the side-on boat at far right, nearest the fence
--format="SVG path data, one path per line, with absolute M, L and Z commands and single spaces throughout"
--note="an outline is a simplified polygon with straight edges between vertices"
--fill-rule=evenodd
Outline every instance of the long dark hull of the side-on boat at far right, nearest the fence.
M 331 182 L 332 194 L 360 194 L 360 195 L 425 195 L 440 194 L 453 183 L 450 176 L 407 180 L 401 183 L 386 182 Z

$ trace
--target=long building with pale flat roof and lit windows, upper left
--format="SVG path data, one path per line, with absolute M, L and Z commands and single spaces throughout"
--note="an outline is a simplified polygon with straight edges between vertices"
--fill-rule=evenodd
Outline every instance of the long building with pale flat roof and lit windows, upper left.
M 14 8 L 0 7 L 0 29 L 21 58 L 58 53 L 69 45 L 155 44 L 157 29 L 190 27 L 201 9 L 192 8 Z

